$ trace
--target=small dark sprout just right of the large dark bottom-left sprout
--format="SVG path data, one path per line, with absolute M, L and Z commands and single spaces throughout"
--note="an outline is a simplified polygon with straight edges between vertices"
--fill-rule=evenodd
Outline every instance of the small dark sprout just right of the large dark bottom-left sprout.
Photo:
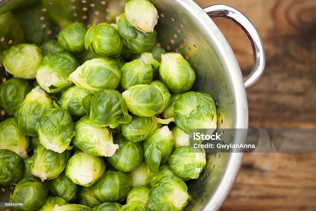
M 64 173 L 52 180 L 50 185 L 52 195 L 62 197 L 66 202 L 75 201 L 78 185 L 73 183 Z

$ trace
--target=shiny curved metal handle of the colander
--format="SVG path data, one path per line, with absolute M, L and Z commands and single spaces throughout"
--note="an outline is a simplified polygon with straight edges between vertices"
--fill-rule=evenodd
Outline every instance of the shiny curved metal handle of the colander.
M 244 79 L 246 90 L 252 88 L 260 80 L 265 63 L 265 54 L 262 40 L 257 29 L 240 11 L 223 4 L 215 4 L 204 8 L 211 18 L 225 18 L 234 22 L 246 34 L 254 55 L 254 66 L 250 74 Z

